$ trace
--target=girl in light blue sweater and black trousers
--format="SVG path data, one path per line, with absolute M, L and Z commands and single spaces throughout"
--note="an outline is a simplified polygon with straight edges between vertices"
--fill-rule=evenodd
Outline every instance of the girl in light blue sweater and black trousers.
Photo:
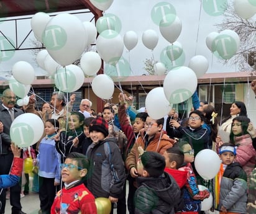
M 58 120 L 45 121 L 45 134 L 39 144 L 39 154 L 34 159 L 34 166 L 39 166 L 39 199 L 42 214 L 50 213 L 56 194 L 56 187 L 60 184 L 60 154 L 55 148 L 55 135 L 59 128 Z

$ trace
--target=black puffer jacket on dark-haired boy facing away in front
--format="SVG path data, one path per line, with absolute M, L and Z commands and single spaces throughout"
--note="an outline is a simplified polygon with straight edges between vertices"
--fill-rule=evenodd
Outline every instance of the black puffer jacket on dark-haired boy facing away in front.
M 171 214 L 179 202 L 180 188 L 173 177 L 138 177 L 139 188 L 135 192 L 135 214 Z

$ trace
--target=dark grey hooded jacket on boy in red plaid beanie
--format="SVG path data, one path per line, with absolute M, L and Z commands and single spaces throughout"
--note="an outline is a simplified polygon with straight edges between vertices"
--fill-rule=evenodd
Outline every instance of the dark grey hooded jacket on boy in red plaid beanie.
M 95 198 L 119 198 L 126 181 L 124 162 L 116 138 L 105 138 L 92 143 L 87 156 L 90 161 L 86 186 Z

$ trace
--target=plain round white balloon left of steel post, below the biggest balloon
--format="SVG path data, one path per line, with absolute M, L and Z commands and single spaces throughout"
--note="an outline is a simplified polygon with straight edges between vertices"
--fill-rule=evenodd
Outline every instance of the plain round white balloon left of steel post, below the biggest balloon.
M 85 75 L 93 76 L 101 68 L 101 56 L 94 51 L 88 51 L 82 55 L 80 66 Z

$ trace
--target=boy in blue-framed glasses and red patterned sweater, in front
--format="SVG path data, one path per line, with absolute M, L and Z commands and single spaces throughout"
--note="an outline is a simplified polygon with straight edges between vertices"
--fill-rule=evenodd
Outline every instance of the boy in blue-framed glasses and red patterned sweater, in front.
M 51 214 L 97 214 L 95 199 L 83 181 L 89 170 L 89 159 L 84 154 L 72 152 L 61 164 L 65 187 L 58 191 Z

